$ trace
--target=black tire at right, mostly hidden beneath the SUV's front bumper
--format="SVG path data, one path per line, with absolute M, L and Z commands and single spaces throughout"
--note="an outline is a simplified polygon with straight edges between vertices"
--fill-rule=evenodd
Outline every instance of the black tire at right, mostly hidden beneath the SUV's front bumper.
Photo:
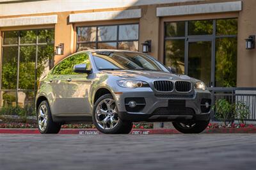
M 205 130 L 205 128 L 207 128 L 209 121 L 190 121 L 186 123 L 174 121 L 172 124 L 173 127 L 182 134 L 200 134 Z M 191 127 L 189 127 L 189 125 L 191 125 Z

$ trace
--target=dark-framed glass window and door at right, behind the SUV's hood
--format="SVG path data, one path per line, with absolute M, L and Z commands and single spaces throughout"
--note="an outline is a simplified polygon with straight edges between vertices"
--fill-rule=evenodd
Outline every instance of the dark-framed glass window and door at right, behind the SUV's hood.
M 164 64 L 208 86 L 236 87 L 237 19 L 165 22 Z

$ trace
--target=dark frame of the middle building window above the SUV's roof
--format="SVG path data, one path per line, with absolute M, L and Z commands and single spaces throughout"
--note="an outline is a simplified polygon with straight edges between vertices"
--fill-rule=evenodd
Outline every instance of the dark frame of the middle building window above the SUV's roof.
M 119 26 L 127 26 L 127 25 L 138 25 L 138 39 L 132 39 L 132 40 L 119 40 Z M 109 41 L 99 41 L 98 40 L 98 31 L 99 27 L 104 27 L 104 26 L 116 26 L 116 40 L 109 40 Z M 79 27 L 96 27 L 96 40 L 95 42 L 78 42 L 78 29 Z M 140 39 L 140 23 L 138 22 L 132 22 L 132 23 L 125 23 L 125 24 L 107 24 L 107 25 L 92 25 L 92 26 L 77 26 L 76 27 L 76 52 L 78 51 L 78 46 L 79 44 L 89 44 L 89 43 L 95 43 L 96 49 L 98 49 L 98 44 L 99 43 L 116 43 L 116 49 L 118 49 L 118 43 L 119 42 L 138 42 L 138 50 L 140 48 L 139 45 L 139 39 Z

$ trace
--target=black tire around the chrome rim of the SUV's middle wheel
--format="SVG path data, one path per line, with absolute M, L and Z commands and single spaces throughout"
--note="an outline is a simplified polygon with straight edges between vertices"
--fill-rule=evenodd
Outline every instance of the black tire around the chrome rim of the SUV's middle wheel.
M 108 98 L 111 98 L 114 100 L 114 98 L 112 97 L 111 94 L 106 94 L 106 95 L 103 95 L 102 97 L 100 97 L 95 102 L 95 105 L 93 107 L 93 115 L 92 115 L 93 124 L 95 125 L 97 130 L 99 130 L 103 134 L 129 134 L 132 130 L 132 122 L 131 121 L 123 121 L 123 120 L 120 120 L 120 118 L 119 118 L 119 121 L 116 124 L 116 126 L 111 129 L 104 129 L 104 128 L 100 127 L 100 125 L 98 125 L 97 120 L 95 118 L 97 105 L 99 105 L 99 103 L 102 102 L 102 100 L 105 100 Z

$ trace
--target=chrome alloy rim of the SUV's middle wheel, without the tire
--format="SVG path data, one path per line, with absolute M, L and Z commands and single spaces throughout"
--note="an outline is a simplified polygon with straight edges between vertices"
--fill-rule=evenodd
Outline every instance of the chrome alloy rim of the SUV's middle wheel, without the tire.
M 118 125 L 118 111 L 113 98 L 105 98 L 100 101 L 95 110 L 95 120 L 102 129 L 112 129 Z

